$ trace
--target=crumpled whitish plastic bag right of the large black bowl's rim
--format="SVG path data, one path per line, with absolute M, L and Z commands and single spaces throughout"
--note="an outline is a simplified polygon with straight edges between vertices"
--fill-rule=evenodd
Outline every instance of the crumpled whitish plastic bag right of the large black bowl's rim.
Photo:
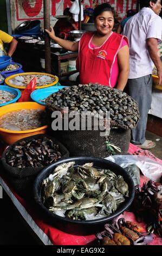
M 122 168 L 126 168 L 130 164 L 135 164 L 148 179 L 152 179 L 155 182 L 160 181 L 162 164 L 155 162 L 146 156 L 116 155 L 108 156 L 106 159 L 119 164 Z

